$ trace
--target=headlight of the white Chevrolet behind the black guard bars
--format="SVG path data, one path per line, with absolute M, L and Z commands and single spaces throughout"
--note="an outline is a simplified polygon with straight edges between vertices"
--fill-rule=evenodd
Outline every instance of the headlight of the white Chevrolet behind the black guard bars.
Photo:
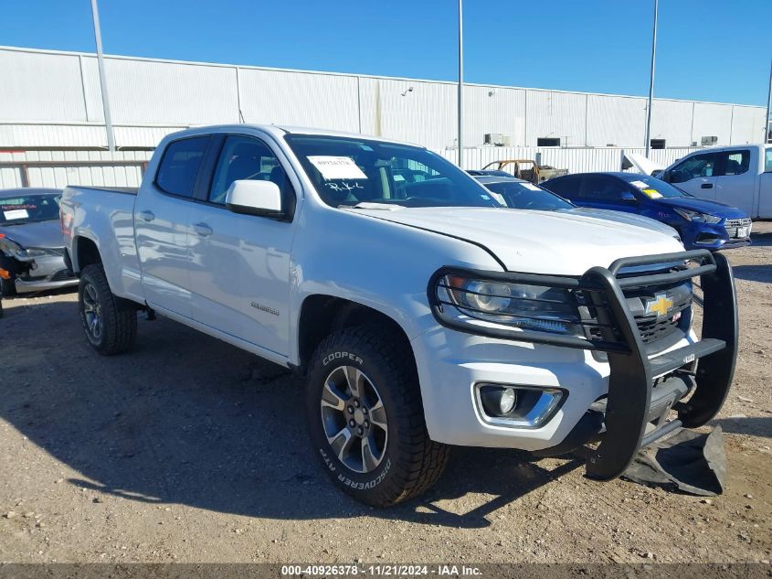
M 462 316 L 521 329 L 582 334 L 575 302 L 562 288 L 507 284 L 449 273 L 439 278 L 437 291 L 438 295 L 444 291 Z

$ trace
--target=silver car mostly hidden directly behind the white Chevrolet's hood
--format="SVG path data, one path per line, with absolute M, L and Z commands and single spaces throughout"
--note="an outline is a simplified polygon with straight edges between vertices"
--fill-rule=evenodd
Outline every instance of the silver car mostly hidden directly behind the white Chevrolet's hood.
M 591 209 L 587 207 L 576 207 L 570 201 L 555 195 L 552 191 L 547 191 L 530 181 L 518 179 L 516 177 L 503 177 L 500 175 L 474 175 L 475 179 L 480 181 L 489 191 L 492 197 L 505 207 L 512 209 L 535 209 L 543 211 L 566 211 L 575 215 L 586 215 L 598 220 L 614 221 L 615 223 L 625 223 L 627 225 L 638 225 L 651 231 L 667 233 L 678 241 L 681 238 L 678 231 L 675 231 L 670 225 L 665 225 L 657 220 L 652 220 L 642 215 L 632 213 L 623 213 L 622 211 L 612 211 L 610 209 Z

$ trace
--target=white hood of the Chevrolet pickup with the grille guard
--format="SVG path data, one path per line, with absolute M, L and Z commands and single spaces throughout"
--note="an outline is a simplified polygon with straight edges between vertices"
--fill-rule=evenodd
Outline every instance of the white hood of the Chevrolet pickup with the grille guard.
M 670 235 L 575 212 L 496 208 L 348 209 L 490 250 L 511 272 L 581 275 L 620 257 L 682 252 Z

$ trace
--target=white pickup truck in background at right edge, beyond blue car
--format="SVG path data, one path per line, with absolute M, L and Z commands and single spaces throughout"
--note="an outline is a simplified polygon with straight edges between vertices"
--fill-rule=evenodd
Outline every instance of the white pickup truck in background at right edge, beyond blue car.
M 772 219 L 772 145 L 735 145 L 695 151 L 656 177 L 694 197 Z

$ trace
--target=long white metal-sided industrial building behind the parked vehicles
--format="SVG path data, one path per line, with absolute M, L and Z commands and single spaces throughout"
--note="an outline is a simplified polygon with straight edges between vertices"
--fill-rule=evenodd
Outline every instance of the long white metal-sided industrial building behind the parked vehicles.
M 164 134 L 190 125 L 244 122 L 382 135 L 455 155 L 453 82 L 118 56 L 106 56 L 104 64 L 122 151 L 151 149 Z M 613 149 L 644 145 L 646 106 L 643 97 L 468 84 L 463 143 L 480 152 L 465 155 L 464 165 L 502 157 L 500 147 L 485 146 L 486 135 L 499 145 L 528 147 L 523 154 L 550 153 L 553 164 L 576 157 L 579 167 L 595 168 L 591 159 L 603 156 L 617 165 Z M 757 106 L 655 99 L 651 138 L 669 149 L 761 143 L 765 114 Z M 544 148 L 558 143 L 573 152 L 555 156 L 554 146 Z M 106 147 L 95 54 L 0 47 L 0 164 L 93 160 L 82 153 Z M 660 154 L 673 155 L 679 153 Z M 2 176 L 0 166 L 0 186 Z

